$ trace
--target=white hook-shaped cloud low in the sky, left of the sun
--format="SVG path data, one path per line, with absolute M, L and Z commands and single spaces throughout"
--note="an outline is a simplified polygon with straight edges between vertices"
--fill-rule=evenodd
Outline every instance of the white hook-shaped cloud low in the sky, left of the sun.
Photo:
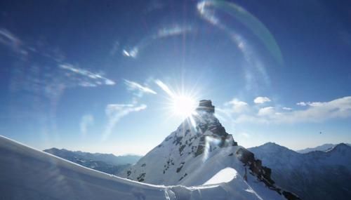
M 105 113 L 108 117 L 107 127 L 105 133 L 102 135 L 102 140 L 106 140 L 112 132 L 112 129 L 117 124 L 117 122 L 124 116 L 130 114 L 131 112 L 139 112 L 146 109 L 147 105 L 133 105 L 133 104 L 110 104 L 107 105 Z

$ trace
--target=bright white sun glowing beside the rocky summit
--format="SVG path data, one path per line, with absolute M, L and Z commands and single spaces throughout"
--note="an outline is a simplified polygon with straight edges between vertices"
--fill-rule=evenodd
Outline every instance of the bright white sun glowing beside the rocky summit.
M 173 114 L 187 117 L 194 113 L 197 107 L 197 102 L 190 96 L 176 95 L 172 98 L 171 107 Z

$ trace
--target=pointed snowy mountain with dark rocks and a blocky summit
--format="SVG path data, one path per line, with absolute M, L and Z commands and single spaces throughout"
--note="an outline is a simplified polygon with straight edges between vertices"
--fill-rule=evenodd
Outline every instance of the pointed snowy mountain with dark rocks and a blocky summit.
M 157 185 L 218 184 L 237 199 L 298 199 L 274 185 L 270 174 L 225 131 L 211 100 L 201 100 L 176 131 L 120 175 Z

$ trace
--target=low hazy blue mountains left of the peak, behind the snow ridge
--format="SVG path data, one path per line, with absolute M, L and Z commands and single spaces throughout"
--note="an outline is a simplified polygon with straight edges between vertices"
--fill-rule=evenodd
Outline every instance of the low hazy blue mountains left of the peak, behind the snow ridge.
M 44 152 L 80 164 L 81 166 L 86 166 L 113 175 L 117 175 L 117 173 L 128 168 L 131 164 L 135 164 L 140 159 L 140 156 L 114 156 L 114 154 L 100 153 L 92 154 L 80 151 L 72 152 L 67 149 L 57 148 L 45 149 Z

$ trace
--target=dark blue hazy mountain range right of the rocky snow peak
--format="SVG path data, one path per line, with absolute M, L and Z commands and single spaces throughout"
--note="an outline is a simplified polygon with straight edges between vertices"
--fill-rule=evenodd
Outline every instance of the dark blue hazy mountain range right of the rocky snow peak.
M 322 145 L 301 154 L 269 142 L 249 150 L 272 169 L 277 185 L 301 199 L 351 199 L 349 145 Z

